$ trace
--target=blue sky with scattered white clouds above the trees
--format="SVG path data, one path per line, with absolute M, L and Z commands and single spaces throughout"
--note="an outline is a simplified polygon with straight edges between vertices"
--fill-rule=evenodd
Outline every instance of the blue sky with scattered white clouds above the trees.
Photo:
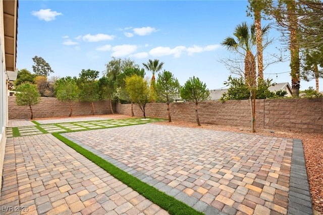
M 32 58 L 43 58 L 51 76 L 76 76 L 82 69 L 105 71 L 115 58 L 129 58 L 143 68 L 149 59 L 164 62 L 181 85 L 198 77 L 208 89 L 228 88 L 233 75 L 223 62 L 238 57 L 221 45 L 246 16 L 247 1 L 19 1 L 17 68 L 32 72 Z M 266 21 L 268 23 L 268 21 Z M 266 24 L 263 22 L 262 24 Z M 280 32 L 264 50 L 264 78 L 289 82 L 285 62 L 273 55 L 286 50 Z M 267 62 L 267 63 L 266 63 Z M 271 63 L 268 63 L 271 62 Z M 151 77 L 151 72 L 146 71 Z M 237 75 L 233 75 L 237 76 Z M 157 77 L 157 76 L 156 76 Z M 322 79 L 319 80 L 322 82 Z M 301 90 L 315 82 L 301 80 Z M 323 87 L 320 87 L 320 91 Z

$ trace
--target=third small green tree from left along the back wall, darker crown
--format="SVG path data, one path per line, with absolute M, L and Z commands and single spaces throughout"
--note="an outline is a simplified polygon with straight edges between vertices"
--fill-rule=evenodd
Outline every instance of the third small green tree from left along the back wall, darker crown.
M 76 82 L 80 89 L 80 100 L 91 102 L 93 115 L 95 115 L 93 102 L 99 99 L 99 85 L 96 80 L 99 73 L 99 71 L 90 69 L 82 70 Z

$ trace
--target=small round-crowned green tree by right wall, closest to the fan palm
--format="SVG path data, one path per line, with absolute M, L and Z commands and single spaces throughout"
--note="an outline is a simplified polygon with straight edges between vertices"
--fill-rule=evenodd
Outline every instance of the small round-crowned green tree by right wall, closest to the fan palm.
M 198 126 L 201 126 L 197 107 L 201 101 L 205 101 L 209 98 L 210 92 L 206 88 L 206 84 L 199 80 L 199 78 L 189 78 L 188 81 L 181 88 L 181 97 L 186 101 L 193 101 L 195 103 L 195 115 Z

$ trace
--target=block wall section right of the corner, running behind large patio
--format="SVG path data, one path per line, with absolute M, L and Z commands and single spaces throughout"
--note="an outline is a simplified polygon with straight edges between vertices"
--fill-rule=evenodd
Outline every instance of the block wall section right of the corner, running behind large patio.
M 142 112 L 134 104 L 134 113 Z M 196 122 L 192 102 L 171 103 L 173 120 Z M 130 104 L 116 104 L 119 114 L 130 115 Z M 251 126 L 248 100 L 205 101 L 198 105 L 200 123 L 225 126 Z M 148 103 L 146 117 L 168 119 L 165 103 Z M 257 99 L 256 128 L 306 133 L 323 132 L 323 98 Z

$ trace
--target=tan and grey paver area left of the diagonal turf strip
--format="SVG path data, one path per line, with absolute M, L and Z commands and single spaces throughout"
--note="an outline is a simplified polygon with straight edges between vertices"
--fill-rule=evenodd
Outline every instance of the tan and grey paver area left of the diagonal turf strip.
M 8 138 L 0 214 L 143 214 L 150 201 L 100 170 L 51 134 Z

